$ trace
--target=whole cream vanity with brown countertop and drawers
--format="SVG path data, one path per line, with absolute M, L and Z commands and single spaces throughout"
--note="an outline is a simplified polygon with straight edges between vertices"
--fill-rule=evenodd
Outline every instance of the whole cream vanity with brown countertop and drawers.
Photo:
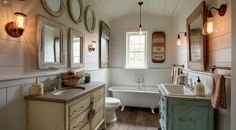
M 104 83 L 92 82 L 42 96 L 27 96 L 28 130 L 94 130 L 105 128 Z

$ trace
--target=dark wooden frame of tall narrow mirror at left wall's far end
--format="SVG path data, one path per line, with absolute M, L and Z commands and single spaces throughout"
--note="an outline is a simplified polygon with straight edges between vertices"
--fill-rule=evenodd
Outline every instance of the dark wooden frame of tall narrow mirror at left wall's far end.
M 101 38 L 104 38 L 108 40 L 108 66 L 103 66 L 102 65 L 102 40 Z M 108 68 L 110 66 L 109 64 L 110 61 L 110 28 L 109 26 L 101 21 L 99 25 L 99 68 Z

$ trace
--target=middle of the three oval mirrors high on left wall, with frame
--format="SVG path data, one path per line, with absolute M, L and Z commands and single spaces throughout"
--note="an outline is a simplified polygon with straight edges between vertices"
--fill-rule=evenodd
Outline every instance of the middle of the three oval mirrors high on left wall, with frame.
M 79 23 L 83 17 L 83 3 L 82 0 L 69 0 L 70 16 L 75 23 Z

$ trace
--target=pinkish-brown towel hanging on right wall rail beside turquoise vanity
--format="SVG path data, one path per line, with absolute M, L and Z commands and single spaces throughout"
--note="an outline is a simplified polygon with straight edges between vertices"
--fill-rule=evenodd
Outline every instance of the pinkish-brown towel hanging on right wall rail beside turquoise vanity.
M 211 104 L 215 109 L 227 109 L 225 78 L 223 75 L 213 74 L 213 86 L 211 93 Z

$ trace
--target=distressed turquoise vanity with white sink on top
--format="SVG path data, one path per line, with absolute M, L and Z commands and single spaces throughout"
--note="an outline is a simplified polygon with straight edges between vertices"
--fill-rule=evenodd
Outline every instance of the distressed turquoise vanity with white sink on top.
M 209 97 L 196 97 L 180 85 L 159 85 L 161 130 L 213 130 L 214 110 Z

